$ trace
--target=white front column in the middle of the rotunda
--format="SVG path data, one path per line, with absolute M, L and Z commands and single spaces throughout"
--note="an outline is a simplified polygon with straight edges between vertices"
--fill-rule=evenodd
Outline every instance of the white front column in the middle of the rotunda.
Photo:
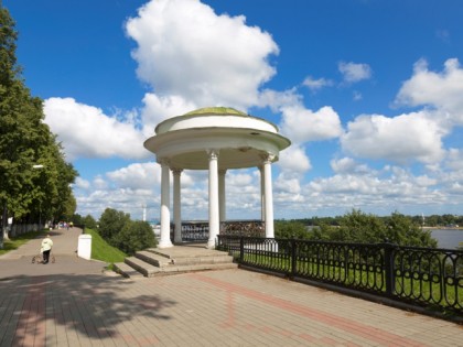
M 209 158 L 209 239 L 207 248 L 215 248 L 215 241 L 219 230 L 218 215 L 218 151 L 208 150 Z

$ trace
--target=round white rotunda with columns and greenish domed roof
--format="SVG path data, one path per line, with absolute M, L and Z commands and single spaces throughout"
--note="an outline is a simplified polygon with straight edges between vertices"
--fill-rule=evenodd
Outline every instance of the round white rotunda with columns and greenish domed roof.
M 260 171 L 261 218 L 267 238 L 273 238 L 271 163 L 288 148 L 289 139 L 261 118 L 233 108 L 208 107 L 169 118 L 144 141 L 161 165 L 161 239 L 159 248 L 172 247 L 170 237 L 170 171 L 173 173 L 174 242 L 181 242 L 181 173 L 208 170 L 208 241 L 214 248 L 219 225 L 226 221 L 225 174 L 230 169 Z

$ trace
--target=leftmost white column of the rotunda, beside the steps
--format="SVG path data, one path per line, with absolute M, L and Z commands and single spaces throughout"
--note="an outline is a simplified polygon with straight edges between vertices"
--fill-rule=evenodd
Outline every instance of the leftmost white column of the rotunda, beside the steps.
M 170 170 L 169 161 L 160 160 L 161 164 L 161 240 L 159 248 L 172 247 L 171 241 L 171 212 L 170 212 Z

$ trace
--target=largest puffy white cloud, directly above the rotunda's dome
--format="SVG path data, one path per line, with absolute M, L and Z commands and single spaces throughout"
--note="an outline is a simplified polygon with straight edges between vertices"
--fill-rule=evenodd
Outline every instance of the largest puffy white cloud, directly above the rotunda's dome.
M 197 0 L 150 1 L 126 29 L 138 44 L 138 76 L 161 96 L 246 109 L 276 73 L 268 57 L 279 51 L 268 33 Z

